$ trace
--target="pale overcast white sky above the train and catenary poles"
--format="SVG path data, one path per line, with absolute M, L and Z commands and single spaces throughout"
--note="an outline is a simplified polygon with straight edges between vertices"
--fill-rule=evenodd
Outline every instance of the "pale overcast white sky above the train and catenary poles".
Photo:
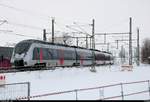
M 65 25 L 77 22 L 86 24 L 80 27 L 88 33 L 91 33 L 88 24 L 92 19 L 95 19 L 96 33 L 129 32 L 129 17 L 132 17 L 133 37 L 137 27 L 141 43 L 150 37 L 150 0 L 0 0 L 0 12 L 0 20 L 8 21 L 0 25 L 0 30 L 13 31 L 0 31 L 1 46 L 34 37 L 42 39 L 43 28 L 51 31 L 51 17 L 55 17 L 56 31 L 68 32 Z M 96 40 L 101 38 L 97 36 Z M 108 37 L 109 41 L 114 39 Z

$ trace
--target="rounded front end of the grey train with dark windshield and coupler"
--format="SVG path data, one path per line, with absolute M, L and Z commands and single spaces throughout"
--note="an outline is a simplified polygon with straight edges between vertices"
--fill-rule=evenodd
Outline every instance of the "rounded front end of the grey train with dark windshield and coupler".
M 31 43 L 26 41 L 19 42 L 15 46 L 11 58 L 11 63 L 13 66 L 21 67 L 21 66 L 28 65 L 27 61 L 29 61 L 28 53 L 29 53 L 30 46 Z

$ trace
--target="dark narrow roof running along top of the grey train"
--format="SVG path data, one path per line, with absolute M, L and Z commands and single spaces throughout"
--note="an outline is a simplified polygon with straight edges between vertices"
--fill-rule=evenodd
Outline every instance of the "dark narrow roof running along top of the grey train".
M 59 43 L 52 43 L 52 42 L 45 42 L 45 41 L 42 41 L 42 40 L 35 40 L 35 39 L 23 40 L 23 41 L 21 41 L 21 42 L 58 45 L 58 46 L 64 46 L 64 47 L 80 48 L 80 49 L 85 49 L 85 50 L 94 50 L 94 51 L 98 51 L 98 52 L 102 52 L 102 53 L 108 53 L 108 54 L 111 54 L 110 52 L 100 51 L 100 50 L 97 50 L 97 49 L 87 49 L 87 48 L 79 47 L 79 46 L 70 46 L 70 45 L 59 44 Z M 21 42 L 20 42 L 20 43 L 21 43 Z

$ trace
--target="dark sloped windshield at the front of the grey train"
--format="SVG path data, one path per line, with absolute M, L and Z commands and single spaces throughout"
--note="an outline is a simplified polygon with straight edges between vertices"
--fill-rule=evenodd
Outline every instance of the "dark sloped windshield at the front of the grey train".
M 17 44 L 15 47 L 15 53 L 22 54 L 22 53 L 27 52 L 30 45 L 31 43 L 27 43 L 27 42 L 21 42 Z

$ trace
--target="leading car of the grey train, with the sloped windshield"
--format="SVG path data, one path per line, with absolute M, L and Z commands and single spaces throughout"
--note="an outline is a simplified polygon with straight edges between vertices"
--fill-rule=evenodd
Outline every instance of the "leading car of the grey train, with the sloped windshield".
M 72 66 L 76 63 L 75 48 L 39 40 L 19 42 L 13 51 L 14 66 Z

